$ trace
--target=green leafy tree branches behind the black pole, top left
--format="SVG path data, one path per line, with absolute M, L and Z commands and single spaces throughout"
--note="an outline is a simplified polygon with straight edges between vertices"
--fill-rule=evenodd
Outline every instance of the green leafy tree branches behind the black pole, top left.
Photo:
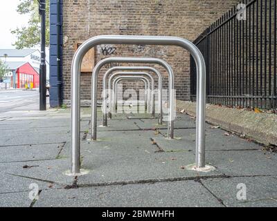
M 17 41 L 13 44 L 17 49 L 32 48 L 40 43 L 39 0 L 20 0 L 17 12 L 20 15 L 30 15 L 28 26 L 12 30 Z M 49 46 L 49 0 L 46 0 L 46 46 Z

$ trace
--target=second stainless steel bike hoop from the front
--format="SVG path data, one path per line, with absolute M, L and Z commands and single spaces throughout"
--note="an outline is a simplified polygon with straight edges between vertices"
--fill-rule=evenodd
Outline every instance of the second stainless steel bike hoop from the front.
M 91 140 L 96 140 L 97 134 L 97 96 L 94 96 L 94 93 L 97 93 L 97 80 L 99 71 L 102 66 L 105 64 L 111 64 L 114 62 L 122 62 L 122 63 L 149 63 L 149 64 L 159 64 L 166 68 L 169 81 L 169 95 L 168 95 L 168 103 L 169 103 L 169 113 L 168 113 L 168 138 L 174 138 L 174 112 L 175 112 L 175 99 L 174 99 L 174 74 L 173 70 L 170 65 L 163 61 L 162 59 L 157 58 L 149 58 L 149 57 L 108 57 L 102 59 L 101 61 L 96 64 L 95 68 L 93 69 L 92 77 L 91 77 L 91 106 L 93 112 L 91 113 Z

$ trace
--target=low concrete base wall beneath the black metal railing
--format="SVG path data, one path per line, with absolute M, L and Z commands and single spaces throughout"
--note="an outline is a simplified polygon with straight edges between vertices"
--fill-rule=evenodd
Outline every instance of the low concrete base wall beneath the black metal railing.
M 177 100 L 176 108 L 195 116 L 195 102 Z M 206 104 L 206 122 L 246 135 L 259 143 L 277 146 L 277 115 Z

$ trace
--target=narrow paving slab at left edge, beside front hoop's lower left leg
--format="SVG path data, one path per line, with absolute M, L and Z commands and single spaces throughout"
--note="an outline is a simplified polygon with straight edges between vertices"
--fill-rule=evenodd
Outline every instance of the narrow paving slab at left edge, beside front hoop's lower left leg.
M 64 143 L 26 146 L 0 146 L 0 163 L 49 160 L 59 157 Z

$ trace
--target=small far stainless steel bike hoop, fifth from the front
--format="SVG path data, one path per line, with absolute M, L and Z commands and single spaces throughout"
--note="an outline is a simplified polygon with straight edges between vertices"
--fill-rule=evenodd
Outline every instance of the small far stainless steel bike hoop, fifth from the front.
M 112 84 L 112 88 L 114 90 L 114 98 L 113 98 L 113 106 L 114 109 L 117 110 L 117 86 L 118 86 L 118 82 L 119 81 L 123 81 L 123 80 L 139 80 L 139 81 L 143 81 L 145 84 L 145 107 L 150 110 L 150 103 L 151 103 L 151 87 L 150 87 L 150 81 L 148 78 L 143 77 L 143 76 L 132 76 L 132 75 L 126 75 L 126 76 L 118 76 L 114 79 L 113 84 Z M 152 81 L 152 86 L 154 85 L 154 81 Z

